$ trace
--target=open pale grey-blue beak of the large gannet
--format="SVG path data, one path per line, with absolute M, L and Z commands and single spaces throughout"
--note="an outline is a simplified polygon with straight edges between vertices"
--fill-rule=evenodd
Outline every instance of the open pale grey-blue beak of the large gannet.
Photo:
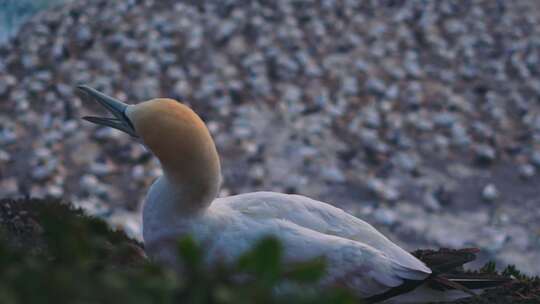
M 88 120 L 91 123 L 95 123 L 102 126 L 107 126 L 111 128 L 118 129 L 120 131 L 126 132 L 127 134 L 137 138 L 137 133 L 133 124 L 126 115 L 127 104 L 107 96 L 97 90 L 92 89 L 89 86 L 81 85 L 77 86 L 77 89 L 95 101 L 99 102 L 103 107 L 105 107 L 114 117 L 95 117 L 95 116 L 85 116 L 84 120 Z

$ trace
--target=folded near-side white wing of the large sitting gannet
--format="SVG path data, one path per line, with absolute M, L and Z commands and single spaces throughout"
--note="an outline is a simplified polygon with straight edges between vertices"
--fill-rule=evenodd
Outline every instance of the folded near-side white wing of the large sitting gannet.
M 210 254 L 236 258 L 264 235 L 277 236 L 284 246 L 285 263 L 325 257 L 327 273 L 323 285 L 343 285 L 369 297 L 384 293 L 410 278 L 424 279 L 415 269 L 408 269 L 385 253 L 360 242 L 297 225 L 284 219 L 247 219 L 229 223 L 216 233 Z

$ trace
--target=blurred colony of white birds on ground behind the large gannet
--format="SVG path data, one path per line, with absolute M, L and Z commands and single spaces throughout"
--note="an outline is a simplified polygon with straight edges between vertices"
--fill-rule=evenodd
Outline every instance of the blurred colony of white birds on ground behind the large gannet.
M 221 195 L 300 193 L 540 274 L 539 1 L 0 0 L 0 41 L 0 197 L 140 235 L 159 166 L 80 119 L 103 114 L 87 84 L 192 106 Z

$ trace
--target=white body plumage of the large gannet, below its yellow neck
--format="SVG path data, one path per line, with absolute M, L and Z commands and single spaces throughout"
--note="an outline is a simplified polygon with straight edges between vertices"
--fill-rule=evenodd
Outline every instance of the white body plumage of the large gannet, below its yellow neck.
M 204 244 L 209 262 L 232 261 L 261 237 L 273 235 L 283 244 L 285 262 L 324 256 L 328 273 L 322 283 L 345 285 L 363 297 L 431 273 L 371 225 L 329 204 L 301 195 L 254 192 L 217 198 L 197 214 L 170 216 L 163 206 L 169 206 L 165 201 L 175 191 L 167 184 L 164 177 L 155 182 L 143 210 L 147 251 L 166 263 L 174 265 L 174 240 L 182 235 Z

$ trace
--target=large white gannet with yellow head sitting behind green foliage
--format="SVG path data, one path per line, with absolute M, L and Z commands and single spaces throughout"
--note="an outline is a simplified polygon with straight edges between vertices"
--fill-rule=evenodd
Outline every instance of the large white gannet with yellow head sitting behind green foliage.
M 347 286 L 374 300 L 414 289 L 432 274 L 373 226 L 330 204 L 276 192 L 217 197 L 219 155 L 205 123 L 188 106 L 168 98 L 128 105 L 78 88 L 114 116 L 84 119 L 137 138 L 163 168 L 142 210 L 149 257 L 175 265 L 175 241 L 190 235 L 204 244 L 208 262 L 233 261 L 260 238 L 275 236 L 286 263 L 324 257 L 321 284 Z

